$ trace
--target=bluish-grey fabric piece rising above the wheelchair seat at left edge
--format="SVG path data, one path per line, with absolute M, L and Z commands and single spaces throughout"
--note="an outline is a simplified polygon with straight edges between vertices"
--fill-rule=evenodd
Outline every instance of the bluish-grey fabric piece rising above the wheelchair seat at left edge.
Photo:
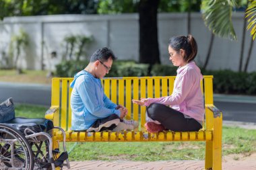
M 15 118 L 13 99 L 9 98 L 0 104 L 0 123 L 5 123 Z

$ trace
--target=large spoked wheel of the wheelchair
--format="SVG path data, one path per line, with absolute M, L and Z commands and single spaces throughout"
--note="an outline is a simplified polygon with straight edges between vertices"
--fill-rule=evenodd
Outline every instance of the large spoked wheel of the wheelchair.
M 1 169 L 32 170 L 34 157 L 28 140 L 15 128 L 0 124 Z

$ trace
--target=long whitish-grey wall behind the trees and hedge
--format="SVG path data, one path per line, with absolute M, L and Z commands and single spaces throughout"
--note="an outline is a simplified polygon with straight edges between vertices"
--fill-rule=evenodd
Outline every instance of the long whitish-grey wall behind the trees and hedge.
M 216 37 L 207 69 L 238 70 L 243 32 L 243 13 L 234 13 L 233 23 L 238 41 Z M 109 46 L 119 59 L 139 59 L 139 16 L 121 15 L 46 15 L 32 17 L 6 17 L 0 23 L 1 52 L 8 51 L 11 35 L 24 29 L 30 37 L 30 46 L 23 54 L 22 65 L 26 69 L 41 69 L 40 61 L 49 69 L 50 62 L 57 64 L 63 54 L 65 36 L 84 34 L 93 36 L 94 42 L 88 46 L 88 57 L 97 48 Z M 168 39 L 171 36 L 187 35 L 186 13 L 158 14 L 158 42 L 162 63 L 168 61 Z M 199 47 L 197 63 L 203 64 L 210 44 L 210 31 L 203 24 L 201 13 L 191 15 L 191 34 Z M 247 32 L 244 58 L 247 57 L 251 36 Z M 42 44 L 44 42 L 44 44 Z M 57 52 L 56 59 L 50 59 L 51 52 Z M 256 49 L 253 48 L 249 71 L 256 71 Z M 245 59 L 244 59 L 245 62 Z M 53 65 L 51 66 L 54 68 Z

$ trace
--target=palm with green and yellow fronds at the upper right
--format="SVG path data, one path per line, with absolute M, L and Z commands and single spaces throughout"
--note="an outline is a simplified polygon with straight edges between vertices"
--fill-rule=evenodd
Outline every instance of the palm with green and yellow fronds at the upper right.
M 234 32 L 233 24 L 232 24 L 232 12 L 234 9 L 237 9 L 241 6 L 241 4 L 245 4 L 247 1 L 235 1 L 235 0 L 219 0 L 219 1 L 207 1 L 203 0 L 202 2 L 202 11 L 203 11 L 203 19 L 205 21 L 205 25 L 216 35 L 224 38 L 228 38 L 230 40 L 237 40 L 236 33 Z M 253 40 L 256 37 L 256 1 L 249 0 L 247 9 L 246 9 L 246 18 L 248 22 L 247 30 L 251 29 L 251 36 Z M 245 28 L 245 24 L 243 26 Z M 244 33 L 245 34 L 245 33 Z M 242 70 L 243 65 L 243 49 L 244 49 L 244 40 L 242 39 L 241 45 L 241 56 L 240 56 L 240 65 L 239 71 Z M 247 60 L 245 62 L 245 69 L 247 71 L 247 67 L 249 65 L 249 60 L 251 58 L 251 50 L 253 48 L 253 42 L 251 42 L 249 47 L 249 53 L 247 56 Z

